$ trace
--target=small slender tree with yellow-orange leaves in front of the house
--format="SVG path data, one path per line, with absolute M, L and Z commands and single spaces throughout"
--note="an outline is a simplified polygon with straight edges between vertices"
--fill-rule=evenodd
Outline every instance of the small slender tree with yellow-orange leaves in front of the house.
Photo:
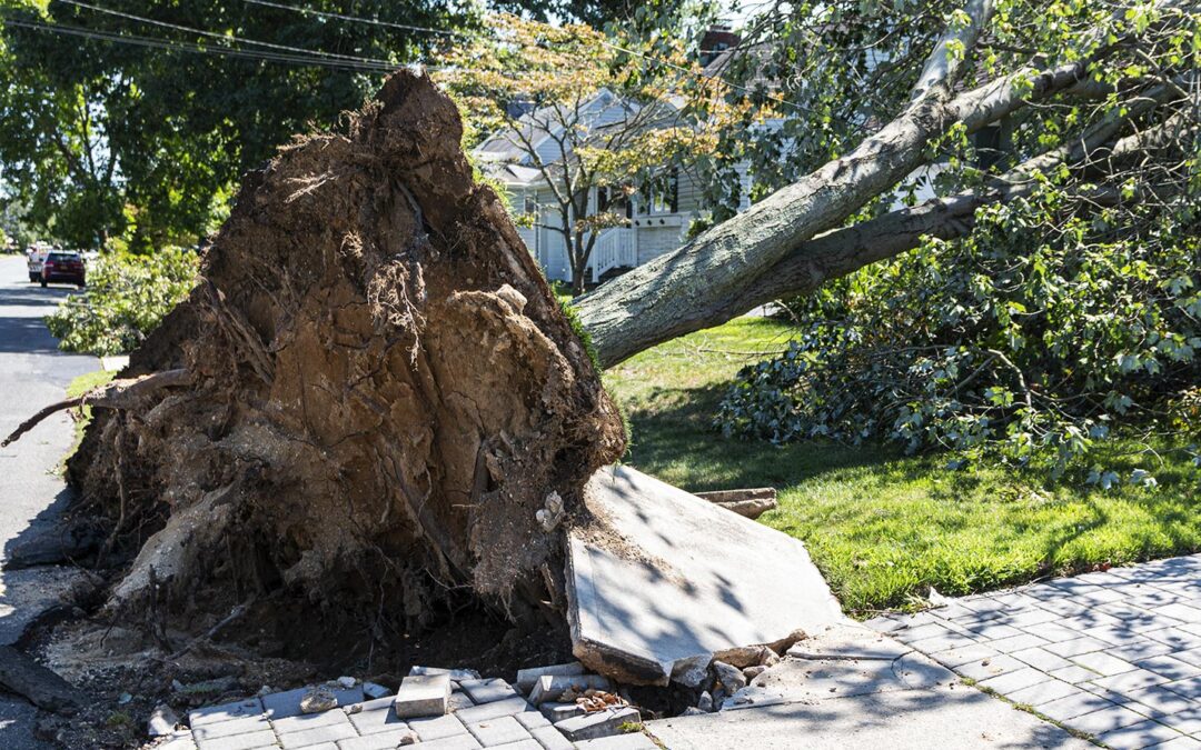
M 665 181 L 668 166 L 692 169 L 711 154 L 737 109 L 674 36 L 650 58 L 634 38 L 610 41 L 582 24 L 501 14 L 488 26 L 490 34 L 450 49 L 435 77 L 460 103 L 465 146 L 503 148 L 485 169 L 521 164 L 538 172 L 549 205 L 519 221 L 562 235 L 572 287 L 580 293 L 599 232 L 628 224 L 628 200 Z M 593 203 L 598 188 L 619 199 Z M 539 223 L 544 209 L 546 224 Z

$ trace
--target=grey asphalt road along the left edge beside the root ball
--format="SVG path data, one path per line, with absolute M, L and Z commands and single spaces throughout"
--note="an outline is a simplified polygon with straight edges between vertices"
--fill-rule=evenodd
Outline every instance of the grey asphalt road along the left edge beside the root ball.
M 0 256 L 0 436 L 60 401 L 72 378 L 100 368 L 95 356 L 59 352 L 42 320 L 73 293 L 74 287 L 65 284 L 43 289 L 29 283 L 23 257 Z M 49 523 L 66 503 L 59 466 L 73 434 L 71 418 L 60 413 L 0 449 L 0 563 L 10 542 Z M 59 568 L 0 571 L 0 643 L 20 637 L 29 619 L 70 575 Z M 0 748 L 46 748 L 34 739 L 32 721 L 29 703 L 0 694 Z

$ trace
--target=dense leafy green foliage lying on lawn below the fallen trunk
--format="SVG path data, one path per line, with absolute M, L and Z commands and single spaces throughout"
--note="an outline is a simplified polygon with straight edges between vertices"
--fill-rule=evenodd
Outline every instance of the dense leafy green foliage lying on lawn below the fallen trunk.
M 800 336 L 739 374 L 718 425 L 1153 486 L 1149 472 L 1099 466 L 1092 449 L 1169 433 L 1195 454 L 1201 217 L 1177 205 L 1115 230 L 1106 212 L 1059 212 L 1056 199 L 987 206 L 964 240 L 928 240 L 789 302 Z

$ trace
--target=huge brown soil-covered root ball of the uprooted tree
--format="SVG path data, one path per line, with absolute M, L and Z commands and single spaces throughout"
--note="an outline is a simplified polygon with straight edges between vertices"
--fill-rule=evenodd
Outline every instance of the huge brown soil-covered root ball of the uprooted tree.
M 448 602 L 562 622 L 536 514 L 557 492 L 570 516 L 621 420 L 460 136 L 400 72 L 247 176 L 68 466 L 124 565 L 114 620 L 329 661 Z

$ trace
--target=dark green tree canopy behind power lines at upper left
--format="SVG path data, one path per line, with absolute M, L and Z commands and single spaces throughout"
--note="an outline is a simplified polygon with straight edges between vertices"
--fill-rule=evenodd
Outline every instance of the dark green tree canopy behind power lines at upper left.
M 6 191 L 66 241 L 135 248 L 193 241 L 293 133 L 479 28 L 432 0 L 0 0 L 0 19 Z

